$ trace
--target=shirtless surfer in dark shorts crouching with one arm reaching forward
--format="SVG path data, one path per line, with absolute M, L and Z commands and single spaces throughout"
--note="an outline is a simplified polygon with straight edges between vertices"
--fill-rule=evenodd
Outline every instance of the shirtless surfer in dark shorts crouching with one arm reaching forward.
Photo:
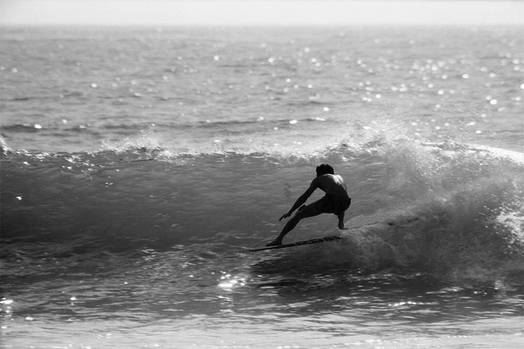
M 303 205 L 316 188 L 320 188 L 326 195 L 310 205 Z M 345 230 L 344 212 L 349 208 L 349 205 L 351 205 L 351 198 L 347 195 L 344 179 L 342 179 L 342 176 L 335 174 L 335 170 L 330 165 L 323 163 L 316 168 L 316 178 L 313 179 L 307 191 L 300 195 L 289 212 L 280 217 L 279 221 L 288 218 L 293 214 L 293 211 L 300 207 L 295 216 L 284 225 L 280 235 L 266 246 L 281 245 L 282 238 L 295 228 L 301 219 L 318 216 L 319 214 L 335 214 L 338 218 L 338 228 Z

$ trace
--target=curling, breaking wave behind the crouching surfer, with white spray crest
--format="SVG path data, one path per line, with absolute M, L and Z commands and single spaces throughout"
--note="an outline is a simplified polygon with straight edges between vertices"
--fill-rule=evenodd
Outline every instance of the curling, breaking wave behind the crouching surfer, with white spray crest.
M 523 154 L 451 142 L 391 142 L 341 142 L 308 155 L 175 154 L 161 147 L 3 151 L 3 259 L 15 275 L 20 254 L 32 265 L 50 253 L 133 255 L 177 246 L 247 251 L 277 235 L 277 218 L 307 188 L 314 167 L 330 163 L 353 200 L 346 239 L 277 253 L 264 262 L 266 270 L 414 270 L 444 283 L 519 283 Z M 336 218 L 324 215 L 301 221 L 285 239 L 333 233 Z

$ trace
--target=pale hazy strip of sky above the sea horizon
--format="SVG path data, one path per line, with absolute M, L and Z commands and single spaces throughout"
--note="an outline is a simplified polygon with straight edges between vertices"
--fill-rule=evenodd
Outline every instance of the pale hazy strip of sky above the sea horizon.
M 518 0 L 0 0 L 0 25 L 524 24 Z

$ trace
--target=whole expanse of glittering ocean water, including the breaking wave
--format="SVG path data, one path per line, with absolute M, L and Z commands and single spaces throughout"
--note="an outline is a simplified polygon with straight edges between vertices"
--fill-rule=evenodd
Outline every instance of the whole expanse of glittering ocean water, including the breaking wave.
M 523 348 L 523 70 L 522 27 L 0 28 L 0 348 Z M 284 242 L 344 239 L 249 252 L 319 163 L 350 229 Z

